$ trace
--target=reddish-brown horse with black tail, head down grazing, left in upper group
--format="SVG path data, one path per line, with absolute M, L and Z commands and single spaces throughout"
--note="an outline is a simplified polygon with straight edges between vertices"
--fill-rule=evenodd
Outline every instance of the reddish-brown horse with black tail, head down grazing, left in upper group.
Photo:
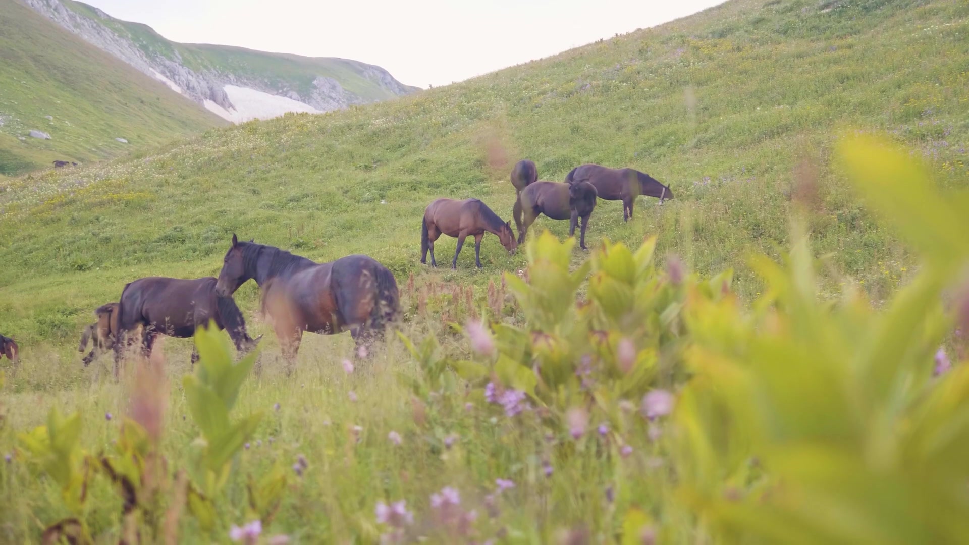
M 454 259 L 451 261 L 451 268 L 457 269 L 457 254 L 461 253 L 464 239 L 471 236 L 475 238 L 475 265 L 481 269 L 482 237 L 485 232 L 497 235 L 501 245 L 509 253 L 518 247 L 512 222 L 501 221 L 498 214 L 487 208 L 485 203 L 478 199 L 438 199 L 424 209 L 421 222 L 421 263 L 427 263 L 429 249 L 430 266 L 437 267 L 437 262 L 434 261 L 434 240 L 444 234 L 457 238 L 457 249 L 454 250 Z

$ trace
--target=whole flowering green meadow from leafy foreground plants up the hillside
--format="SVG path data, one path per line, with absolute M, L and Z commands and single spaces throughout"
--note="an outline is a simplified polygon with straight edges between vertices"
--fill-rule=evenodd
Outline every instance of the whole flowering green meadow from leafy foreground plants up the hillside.
M 4 180 L 0 324 L 23 358 L 0 397 L 0 452 L 15 453 L 0 535 L 39 541 L 71 515 L 97 542 L 125 531 L 104 475 L 82 504 L 77 479 L 36 481 L 46 455 L 18 434 L 56 429 L 51 407 L 83 423 L 70 475 L 82 450 L 115 448 L 125 414 L 155 430 L 144 460 L 197 465 L 189 341 L 115 384 L 107 358 L 80 366 L 76 338 L 127 281 L 217 274 L 237 233 L 317 261 L 374 257 L 415 346 L 391 335 L 355 362 L 348 336 L 306 336 L 286 376 L 267 335 L 230 407 L 263 416 L 210 468 L 229 475 L 213 529 L 197 505 L 173 517 L 178 542 L 228 541 L 254 518 L 266 542 L 955 542 L 966 367 L 931 369 L 964 356 L 939 296 L 969 256 L 967 16 L 948 1 L 728 2 L 413 97 Z M 904 151 L 845 147 L 870 133 Z M 486 236 L 484 270 L 467 247 L 456 272 L 422 267 L 424 206 L 477 197 L 510 219 L 521 157 L 540 179 L 639 168 L 675 199 L 641 198 L 627 224 L 600 201 L 588 253 L 540 219 L 516 256 Z M 442 263 L 453 244 L 437 242 Z M 236 300 L 267 332 L 255 285 Z M 461 331 L 477 318 L 493 328 Z M 276 474 L 270 518 L 246 478 Z M 162 507 L 136 509 L 150 540 L 171 535 L 172 479 L 151 489 Z M 413 523 L 378 513 L 400 499 Z

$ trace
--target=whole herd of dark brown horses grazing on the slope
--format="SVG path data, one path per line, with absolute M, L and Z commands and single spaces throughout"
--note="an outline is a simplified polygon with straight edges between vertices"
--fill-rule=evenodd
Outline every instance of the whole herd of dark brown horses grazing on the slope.
M 421 226 L 421 263 L 430 252 L 434 260 L 434 241 L 442 234 L 457 239 L 452 268 L 467 237 L 475 239 L 475 263 L 482 267 L 481 240 L 485 232 L 493 233 L 502 245 L 514 252 L 522 243 L 529 226 L 540 214 L 551 219 L 570 220 L 573 236 L 581 220 L 580 242 L 585 246 L 585 229 L 596 199 L 622 201 L 623 220 L 633 217 L 633 204 L 638 195 L 656 197 L 660 204 L 672 199 L 670 187 L 651 176 L 633 169 L 610 169 L 586 164 L 573 169 L 564 183 L 540 181 L 535 163 L 519 161 L 512 170 L 516 189 L 513 208 L 518 236 L 510 221 L 502 221 L 477 199 L 455 201 L 438 199 L 424 209 Z M 124 286 L 116 303 L 98 307 L 97 318 L 80 337 L 78 351 L 88 342 L 91 351 L 83 357 L 88 366 L 99 353 L 113 350 L 114 375 L 134 334 L 141 330 L 141 353 L 148 357 L 159 335 L 192 337 L 196 328 L 214 322 L 226 330 L 235 348 L 247 352 L 260 337 L 246 333 L 245 319 L 233 295 L 248 280 L 254 280 L 262 292 L 262 312 L 279 339 L 280 349 L 288 362 L 295 360 L 303 332 L 323 335 L 350 330 L 358 354 L 383 335 L 399 310 L 396 280 L 386 267 L 365 255 L 349 255 L 328 263 L 316 263 L 288 251 L 241 241 L 233 235 L 232 245 L 223 258 L 218 278 L 195 279 L 149 276 Z M 13 338 L 0 335 L 0 357 L 16 361 L 18 347 Z M 193 350 L 192 364 L 198 360 Z

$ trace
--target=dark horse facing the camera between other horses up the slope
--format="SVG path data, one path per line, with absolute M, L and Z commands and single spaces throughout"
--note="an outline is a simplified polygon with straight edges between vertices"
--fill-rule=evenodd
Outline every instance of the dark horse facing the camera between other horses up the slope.
M 525 240 L 528 227 L 540 213 L 552 219 L 568 219 L 569 236 L 576 233 L 578 218 L 582 218 L 579 246 L 585 250 L 585 227 L 589 216 L 596 208 L 596 188 L 587 181 L 558 183 L 556 181 L 536 181 L 521 192 L 521 208 L 524 223 L 518 226 L 518 243 Z

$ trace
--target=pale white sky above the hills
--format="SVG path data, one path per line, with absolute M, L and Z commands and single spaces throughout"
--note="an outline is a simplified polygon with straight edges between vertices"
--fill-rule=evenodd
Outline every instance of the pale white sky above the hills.
M 84 0 L 175 42 L 382 66 L 419 87 L 467 80 L 722 0 Z

